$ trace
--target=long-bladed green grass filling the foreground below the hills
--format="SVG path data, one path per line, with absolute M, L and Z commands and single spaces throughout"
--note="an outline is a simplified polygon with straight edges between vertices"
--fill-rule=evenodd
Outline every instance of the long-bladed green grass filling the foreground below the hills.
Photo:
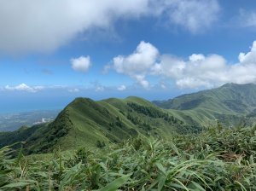
M 102 144 L 102 143 L 101 143 Z M 102 145 L 101 145 L 102 146 Z M 104 148 L 9 159 L 0 150 L 2 190 L 255 190 L 256 127 L 221 124 L 170 140 L 137 136 Z

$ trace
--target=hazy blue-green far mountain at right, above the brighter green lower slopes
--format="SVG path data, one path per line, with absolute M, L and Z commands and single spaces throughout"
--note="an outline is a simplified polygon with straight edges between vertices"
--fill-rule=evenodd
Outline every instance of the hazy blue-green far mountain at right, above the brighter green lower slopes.
M 203 107 L 220 113 L 248 113 L 256 107 L 255 98 L 255 84 L 224 84 L 217 89 L 203 90 L 154 103 L 167 109 L 189 110 Z

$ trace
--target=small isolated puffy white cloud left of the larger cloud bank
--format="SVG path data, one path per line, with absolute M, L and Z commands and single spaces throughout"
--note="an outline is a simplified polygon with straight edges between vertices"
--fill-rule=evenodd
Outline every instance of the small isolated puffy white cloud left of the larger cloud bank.
M 91 65 L 90 56 L 80 56 L 79 58 L 73 58 L 70 61 L 73 70 L 78 72 L 87 72 Z

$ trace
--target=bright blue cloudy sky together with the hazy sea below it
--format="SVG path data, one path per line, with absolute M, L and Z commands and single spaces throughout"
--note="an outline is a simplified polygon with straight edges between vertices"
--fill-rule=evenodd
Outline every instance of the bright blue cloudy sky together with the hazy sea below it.
M 0 28 L 0 113 L 256 83 L 254 0 L 3 0 Z

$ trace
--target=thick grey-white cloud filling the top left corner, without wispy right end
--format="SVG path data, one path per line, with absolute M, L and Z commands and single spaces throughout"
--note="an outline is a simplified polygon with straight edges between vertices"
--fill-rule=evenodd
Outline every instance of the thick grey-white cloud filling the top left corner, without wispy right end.
M 108 28 L 117 18 L 137 18 L 147 10 L 147 0 L 1 1 L 0 49 L 49 52 L 79 33 Z

